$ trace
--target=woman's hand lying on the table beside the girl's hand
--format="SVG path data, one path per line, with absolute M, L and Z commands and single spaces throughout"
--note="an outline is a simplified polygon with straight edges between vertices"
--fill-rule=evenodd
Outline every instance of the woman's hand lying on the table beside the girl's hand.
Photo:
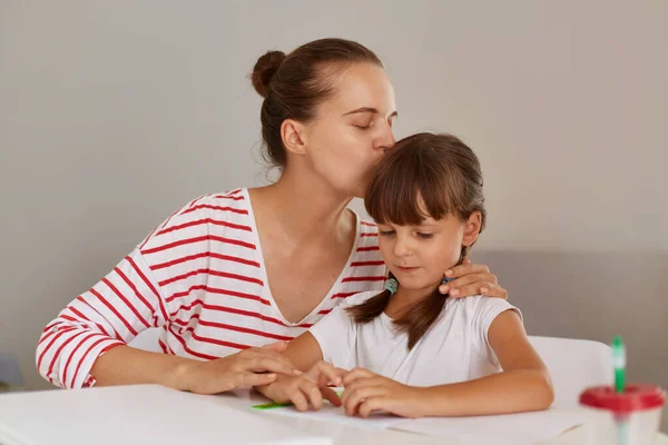
M 282 354 L 286 347 L 284 342 L 274 343 L 209 362 L 188 363 L 176 372 L 176 385 L 173 387 L 197 394 L 217 394 L 238 387 L 267 385 L 276 380 L 277 374 L 301 374 Z

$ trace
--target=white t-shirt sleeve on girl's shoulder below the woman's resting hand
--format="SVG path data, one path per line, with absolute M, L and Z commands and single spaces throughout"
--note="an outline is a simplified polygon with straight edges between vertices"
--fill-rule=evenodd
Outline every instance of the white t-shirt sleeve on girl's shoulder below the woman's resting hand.
M 499 314 L 505 310 L 514 310 L 520 316 L 520 320 L 523 320 L 522 313 L 502 298 L 479 296 L 469 297 L 466 299 L 470 299 L 472 306 L 471 323 L 474 333 L 472 337 L 473 346 L 485 360 L 499 367 L 499 359 L 497 358 L 497 354 L 494 354 L 488 337 L 490 326 Z

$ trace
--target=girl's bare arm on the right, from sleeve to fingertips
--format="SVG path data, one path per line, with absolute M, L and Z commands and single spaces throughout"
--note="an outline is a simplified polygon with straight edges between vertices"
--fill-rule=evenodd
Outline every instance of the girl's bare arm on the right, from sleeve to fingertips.
M 432 387 L 405 386 L 366 369 L 344 379 L 343 405 L 350 415 L 383 409 L 404 417 L 472 416 L 547 409 L 554 399 L 546 365 L 512 310 L 491 324 L 488 338 L 503 368 L 500 374 Z

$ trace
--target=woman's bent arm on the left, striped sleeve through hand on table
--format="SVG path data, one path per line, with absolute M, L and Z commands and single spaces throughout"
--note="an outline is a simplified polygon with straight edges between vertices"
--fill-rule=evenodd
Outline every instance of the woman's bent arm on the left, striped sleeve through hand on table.
M 285 344 L 210 362 L 127 346 L 141 330 L 164 326 L 168 317 L 159 285 L 135 249 L 45 328 L 37 346 L 38 370 L 68 388 L 90 386 L 95 379 L 97 386 L 155 383 L 206 394 L 271 383 L 274 373 L 295 370 L 282 354 Z

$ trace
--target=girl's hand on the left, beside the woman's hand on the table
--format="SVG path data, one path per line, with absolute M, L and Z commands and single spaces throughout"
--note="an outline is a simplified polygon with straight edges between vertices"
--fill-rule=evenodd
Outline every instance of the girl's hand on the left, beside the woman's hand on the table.
M 276 382 L 255 389 L 275 403 L 293 403 L 297 411 L 307 411 L 308 405 L 318 411 L 323 407 L 323 397 L 334 406 L 341 406 L 338 395 L 327 385 L 341 386 L 346 374 L 344 369 L 318 362 L 299 376 L 282 375 Z

